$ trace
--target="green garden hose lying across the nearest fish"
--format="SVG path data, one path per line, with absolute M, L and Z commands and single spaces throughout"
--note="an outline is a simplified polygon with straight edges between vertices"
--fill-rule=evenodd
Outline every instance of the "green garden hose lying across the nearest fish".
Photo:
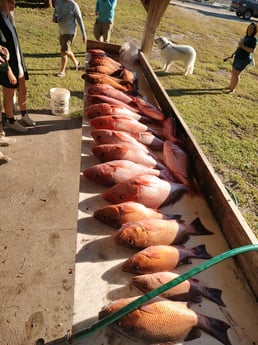
M 218 264 L 219 262 L 228 259 L 232 256 L 242 254 L 249 251 L 258 250 L 258 244 L 250 244 L 238 248 L 234 248 L 231 250 L 228 250 L 222 254 L 219 254 L 215 256 L 214 258 L 211 258 L 200 265 L 190 269 L 188 272 L 182 274 L 181 276 L 171 280 L 170 282 L 158 287 L 155 290 L 152 290 L 148 292 L 147 294 L 137 298 L 135 301 L 127 304 L 125 307 L 119 309 L 118 311 L 106 316 L 104 319 L 97 321 L 95 324 L 90 326 L 89 328 L 85 328 L 75 334 L 72 335 L 72 339 L 81 339 L 87 336 L 92 335 L 96 331 L 99 331 L 100 329 L 108 326 L 109 324 L 115 322 L 116 320 L 120 319 L 121 317 L 125 316 L 126 314 L 132 312 L 133 310 L 140 307 L 142 304 L 146 303 L 150 299 L 162 294 L 168 289 L 171 289 L 172 287 L 182 283 L 183 281 L 195 276 L 196 274 L 207 270 L 208 268 Z

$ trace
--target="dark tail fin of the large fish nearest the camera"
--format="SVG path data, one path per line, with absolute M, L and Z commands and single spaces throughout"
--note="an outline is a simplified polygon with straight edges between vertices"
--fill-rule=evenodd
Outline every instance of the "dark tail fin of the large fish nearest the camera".
M 221 341 L 224 345 L 232 345 L 227 334 L 227 330 L 230 328 L 229 324 L 200 314 L 198 314 L 198 320 L 198 327 L 202 330 Z

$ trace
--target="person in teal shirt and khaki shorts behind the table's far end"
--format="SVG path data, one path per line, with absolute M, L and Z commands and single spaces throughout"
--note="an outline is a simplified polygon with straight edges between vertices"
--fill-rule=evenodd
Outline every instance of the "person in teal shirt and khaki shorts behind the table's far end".
M 96 1 L 96 22 L 93 33 L 98 41 L 110 42 L 114 27 L 115 8 L 117 0 Z

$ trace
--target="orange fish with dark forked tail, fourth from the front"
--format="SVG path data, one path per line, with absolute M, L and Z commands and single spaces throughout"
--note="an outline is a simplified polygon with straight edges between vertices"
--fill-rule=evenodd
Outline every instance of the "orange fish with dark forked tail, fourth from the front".
M 184 244 L 190 235 L 211 235 L 199 218 L 187 225 L 183 220 L 142 219 L 125 223 L 115 234 L 114 240 L 121 245 L 144 249 L 155 245 Z

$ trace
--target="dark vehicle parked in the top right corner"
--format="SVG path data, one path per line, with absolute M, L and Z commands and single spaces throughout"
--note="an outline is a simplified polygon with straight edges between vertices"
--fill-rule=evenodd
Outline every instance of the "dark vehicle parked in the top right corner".
M 230 10 L 246 20 L 258 18 L 258 0 L 232 0 Z

